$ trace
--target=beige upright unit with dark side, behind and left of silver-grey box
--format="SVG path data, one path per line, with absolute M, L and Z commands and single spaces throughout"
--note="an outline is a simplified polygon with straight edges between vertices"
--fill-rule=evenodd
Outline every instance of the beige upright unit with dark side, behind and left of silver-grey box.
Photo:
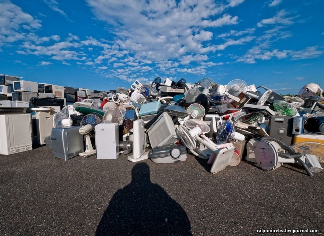
M 31 116 L 32 140 L 34 144 L 44 145 L 45 138 L 50 136 L 53 128 L 53 115 L 48 111 L 39 111 L 46 108 L 32 108 Z

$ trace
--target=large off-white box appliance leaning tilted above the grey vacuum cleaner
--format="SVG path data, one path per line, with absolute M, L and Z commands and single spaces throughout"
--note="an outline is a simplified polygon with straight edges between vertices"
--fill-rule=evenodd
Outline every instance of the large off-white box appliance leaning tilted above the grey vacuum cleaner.
M 167 112 L 163 112 L 158 119 L 147 130 L 151 147 L 164 146 L 170 143 L 176 143 L 178 137 L 176 127 L 171 116 Z

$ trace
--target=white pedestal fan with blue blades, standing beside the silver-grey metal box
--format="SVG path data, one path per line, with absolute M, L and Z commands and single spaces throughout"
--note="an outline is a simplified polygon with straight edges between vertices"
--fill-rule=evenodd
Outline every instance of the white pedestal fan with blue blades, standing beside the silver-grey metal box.
M 96 150 L 94 150 L 92 147 L 90 137 L 95 137 L 95 126 L 100 123 L 102 123 L 102 116 L 97 113 L 85 115 L 81 120 L 81 127 L 79 129 L 79 133 L 85 135 L 86 150 L 80 153 L 80 156 L 86 158 L 96 153 Z

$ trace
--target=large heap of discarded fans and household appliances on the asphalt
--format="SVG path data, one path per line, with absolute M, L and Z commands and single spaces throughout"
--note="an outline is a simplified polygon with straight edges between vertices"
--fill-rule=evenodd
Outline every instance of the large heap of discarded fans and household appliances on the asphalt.
M 266 171 L 299 163 L 312 176 L 324 162 L 322 103 L 317 84 L 283 97 L 239 79 L 221 85 L 209 78 L 189 84 L 157 77 L 59 112 L 31 107 L 31 133 L 33 144 L 46 144 L 64 160 L 124 153 L 131 162 L 176 163 L 190 153 L 205 159 L 213 174 L 245 159 Z

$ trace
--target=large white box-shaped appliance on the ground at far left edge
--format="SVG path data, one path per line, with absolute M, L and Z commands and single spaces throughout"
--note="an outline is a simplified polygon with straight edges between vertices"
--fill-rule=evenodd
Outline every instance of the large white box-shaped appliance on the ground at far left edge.
M 30 114 L 0 115 L 0 154 L 32 150 Z

